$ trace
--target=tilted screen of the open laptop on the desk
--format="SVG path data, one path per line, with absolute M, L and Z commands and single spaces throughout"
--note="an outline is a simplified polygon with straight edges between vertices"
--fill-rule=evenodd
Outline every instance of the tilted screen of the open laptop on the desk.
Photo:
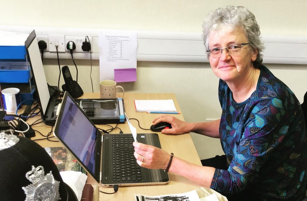
M 99 160 L 95 160 L 97 137 L 100 132 L 68 93 L 64 95 L 54 132 L 89 173 L 94 176 L 100 171 L 96 170 L 96 161 Z

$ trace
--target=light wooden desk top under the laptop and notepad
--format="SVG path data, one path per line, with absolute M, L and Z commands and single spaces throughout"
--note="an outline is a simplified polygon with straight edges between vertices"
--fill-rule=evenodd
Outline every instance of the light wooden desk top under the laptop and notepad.
M 81 98 L 99 98 L 99 93 L 85 93 Z M 143 128 L 150 128 L 152 125 L 152 120 L 159 116 L 160 114 L 149 114 L 145 112 L 135 112 L 134 108 L 134 100 L 145 100 L 145 99 L 173 99 L 175 106 L 178 112 L 181 112 L 175 94 L 173 93 L 125 93 L 124 104 L 125 111 L 128 118 L 136 118 L 140 121 L 140 125 Z M 174 114 L 173 116 L 184 120 L 182 114 Z M 38 118 L 38 117 L 37 117 Z M 35 118 L 29 119 L 27 122 L 31 123 Z M 137 129 L 137 133 L 151 133 L 150 130 L 142 130 L 138 126 L 138 122 L 134 119 L 131 119 L 130 122 Z M 115 124 L 111 124 L 115 126 Z M 107 126 L 98 127 L 107 129 Z M 119 124 L 118 127 L 122 129 L 124 133 L 131 133 L 128 123 Z M 51 131 L 51 127 L 46 126 L 44 123 L 33 126 L 33 129 L 42 132 L 43 134 L 47 134 Z M 112 133 L 119 133 L 118 129 L 115 129 Z M 158 132 L 161 147 L 163 150 L 168 153 L 173 152 L 175 156 L 180 157 L 186 161 L 191 163 L 201 165 L 200 158 L 196 152 L 195 146 L 193 144 L 192 138 L 190 134 L 183 135 L 165 135 L 161 132 Z M 36 138 L 42 138 L 39 134 L 36 134 Z M 54 139 L 54 138 L 52 138 Z M 55 147 L 62 146 L 60 142 L 49 142 L 47 140 L 37 141 L 43 147 Z M 91 175 L 88 175 L 88 181 L 92 185 L 97 185 L 97 183 L 91 178 Z M 183 193 L 199 188 L 200 185 L 186 179 L 183 176 L 179 176 L 173 173 L 169 173 L 169 183 L 163 185 L 144 185 L 144 186 L 120 186 L 119 190 L 115 194 L 103 194 L 99 193 L 99 200 L 134 200 L 134 194 L 145 194 L 145 195 L 165 195 L 165 194 L 173 194 L 173 193 Z M 104 192 L 113 192 L 112 187 L 103 187 L 99 184 L 99 189 Z

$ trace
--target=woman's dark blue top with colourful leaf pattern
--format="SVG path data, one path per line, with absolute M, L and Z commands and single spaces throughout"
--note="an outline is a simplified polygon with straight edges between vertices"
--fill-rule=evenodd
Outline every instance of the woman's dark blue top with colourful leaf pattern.
M 303 112 L 283 82 L 265 66 L 260 70 L 257 90 L 243 103 L 220 80 L 219 132 L 229 167 L 216 169 L 211 188 L 223 195 L 244 189 L 257 200 L 299 200 L 307 182 Z

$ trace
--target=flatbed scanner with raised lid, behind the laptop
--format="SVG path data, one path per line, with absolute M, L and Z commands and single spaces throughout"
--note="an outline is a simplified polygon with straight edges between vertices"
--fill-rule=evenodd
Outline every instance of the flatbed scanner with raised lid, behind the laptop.
M 62 100 L 50 97 L 35 30 L 25 41 L 25 47 L 36 86 L 35 95 L 41 105 L 42 120 L 47 125 L 53 125 L 56 120 L 57 107 Z M 76 99 L 76 101 L 94 123 L 125 123 L 125 109 L 122 98 L 108 100 Z

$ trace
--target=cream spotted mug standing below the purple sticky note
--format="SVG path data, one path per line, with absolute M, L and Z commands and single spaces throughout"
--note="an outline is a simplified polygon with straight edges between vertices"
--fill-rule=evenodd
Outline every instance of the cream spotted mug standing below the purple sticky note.
M 118 88 L 122 89 L 122 97 L 117 97 L 116 90 Z M 103 80 L 100 82 L 100 98 L 123 98 L 125 95 L 125 90 L 122 86 L 116 86 L 116 82 L 113 80 Z

